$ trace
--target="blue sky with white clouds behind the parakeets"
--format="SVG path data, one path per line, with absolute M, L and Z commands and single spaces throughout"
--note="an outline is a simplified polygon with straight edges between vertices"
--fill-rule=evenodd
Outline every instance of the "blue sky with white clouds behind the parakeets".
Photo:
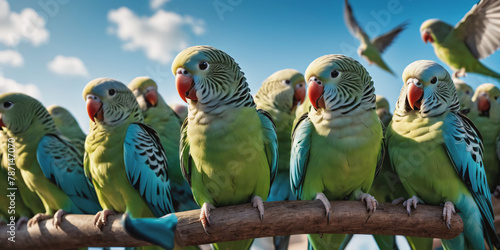
M 345 27 L 340 0 L 0 0 L 0 92 L 25 91 L 46 106 L 64 106 L 87 131 L 81 93 L 90 80 L 106 76 L 128 84 L 150 76 L 167 102 L 181 103 L 170 71 L 173 57 L 184 47 L 211 45 L 235 58 L 252 93 L 277 70 L 304 72 L 317 57 L 347 54 L 368 69 L 376 92 L 393 109 L 403 69 L 419 59 L 439 62 L 432 46 L 422 42 L 420 24 L 440 18 L 455 25 L 476 1 L 350 3 L 372 38 L 410 22 L 383 56 L 397 77 L 358 57 L 359 42 Z M 41 22 L 29 21 L 36 18 Z M 500 53 L 483 63 L 500 71 Z M 475 88 L 494 80 L 469 74 L 465 81 Z

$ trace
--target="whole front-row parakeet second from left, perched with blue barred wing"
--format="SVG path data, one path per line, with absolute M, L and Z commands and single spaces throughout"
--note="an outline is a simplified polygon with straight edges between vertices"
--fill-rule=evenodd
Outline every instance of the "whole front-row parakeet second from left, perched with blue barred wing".
M 174 212 L 167 157 L 156 131 L 143 123 L 132 91 L 114 79 L 97 78 L 85 86 L 83 99 L 92 121 L 85 140 L 85 175 L 103 208 L 95 226 L 101 228 L 115 212 L 133 218 Z

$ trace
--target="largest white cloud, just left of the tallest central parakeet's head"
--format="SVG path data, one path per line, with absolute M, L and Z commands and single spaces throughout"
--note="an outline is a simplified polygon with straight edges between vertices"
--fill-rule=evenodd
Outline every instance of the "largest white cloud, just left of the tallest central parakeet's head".
M 108 20 L 116 27 L 108 29 L 125 42 L 124 50 L 142 49 L 149 59 L 166 64 L 188 47 L 190 35 L 205 32 L 205 22 L 190 16 L 158 10 L 151 17 L 139 17 L 127 7 L 111 10 Z

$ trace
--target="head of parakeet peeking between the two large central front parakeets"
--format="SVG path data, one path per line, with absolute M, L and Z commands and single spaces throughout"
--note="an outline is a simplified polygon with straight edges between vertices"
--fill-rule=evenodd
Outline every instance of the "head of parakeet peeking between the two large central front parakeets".
M 294 69 L 274 72 L 255 95 L 257 106 L 271 105 L 281 111 L 292 112 L 306 98 L 304 75 Z

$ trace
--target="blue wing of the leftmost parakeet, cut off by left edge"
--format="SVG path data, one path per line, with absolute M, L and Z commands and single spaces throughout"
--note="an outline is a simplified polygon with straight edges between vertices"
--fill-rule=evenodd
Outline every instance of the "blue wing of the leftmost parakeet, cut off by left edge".
M 58 135 L 48 134 L 38 143 L 36 152 L 43 174 L 61 188 L 81 211 L 95 214 L 101 210 L 94 187 L 85 177 L 83 156 L 73 144 Z

